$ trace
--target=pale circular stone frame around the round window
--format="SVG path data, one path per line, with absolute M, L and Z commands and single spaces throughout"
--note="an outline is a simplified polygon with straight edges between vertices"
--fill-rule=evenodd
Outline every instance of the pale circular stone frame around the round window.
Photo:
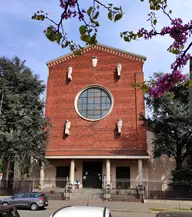
M 85 91 L 85 90 L 87 90 L 87 89 L 89 89 L 89 88 L 94 88 L 94 87 L 95 87 L 95 88 L 100 88 L 100 89 L 106 91 L 106 92 L 109 94 L 109 97 L 111 98 L 111 108 L 109 109 L 109 111 L 107 112 L 107 114 L 105 114 L 103 117 L 98 118 L 98 119 L 89 119 L 89 118 L 86 118 L 86 117 L 84 117 L 83 115 L 80 114 L 80 112 L 79 112 L 79 110 L 78 110 L 78 108 L 77 108 L 77 102 L 78 102 L 79 96 L 83 93 L 83 91 Z M 91 85 L 88 85 L 88 86 L 82 88 L 82 89 L 77 93 L 77 95 L 76 95 L 76 97 L 75 97 L 75 102 L 74 102 L 74 106 L 75 106 L 75 111 L 76 111 L 76 113 L 77 113 L 81 118 L 83 118 L 84 120 L 86 120 L 86 121 L 92 121 L 92 122 L 94 122 L 94 121 L 99 121 L 99 120 L 105 118 L 107 115 L 109 115 L 109 114 L 111 113 L 112 109 L 113 109 L 113 105 L 114 105 L 114 98 L 113 98 L 112 93 L 111 93 L 106 87 L 103 87 L 102 85 L 98 85 L 98 84 L 91 84 Z

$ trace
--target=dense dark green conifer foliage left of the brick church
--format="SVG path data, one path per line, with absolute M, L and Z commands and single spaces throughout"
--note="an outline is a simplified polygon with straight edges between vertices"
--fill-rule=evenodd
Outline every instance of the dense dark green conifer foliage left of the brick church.
M 48 121 L 40 94 L 45 85 L 18 57 L 0 58 L 0 158 L 26 174 L 31 160 L 45 161 Z

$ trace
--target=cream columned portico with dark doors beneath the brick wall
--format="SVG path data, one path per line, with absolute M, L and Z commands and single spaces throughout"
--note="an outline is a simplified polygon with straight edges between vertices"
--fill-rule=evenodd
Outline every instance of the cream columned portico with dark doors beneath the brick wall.
M 43 174 L 50 174 L 50 170 L 52 170 L 55 186 L 58 179 L 56 171 L 61 165 L 64 169 L 69 167 L 68 180 L 74 186 L 79 180 L 79 188 L 102 188 L 106 184 L 110 184 L 112 188 L 135 187 L 138 184 L 143 184 L 143 177 L 147 177 L 148 156 L 73 156 L 72 159 L 69 157 L 64 159 L 63 156 L 49 156 L 47 158 L 52 164 L 52 168 L 46 168 L 44 172 L 42 167 L 40 179 L 42 183 L 43 180 L 50 179 Z M 52 183 L 54 184 L 54 181 Z

